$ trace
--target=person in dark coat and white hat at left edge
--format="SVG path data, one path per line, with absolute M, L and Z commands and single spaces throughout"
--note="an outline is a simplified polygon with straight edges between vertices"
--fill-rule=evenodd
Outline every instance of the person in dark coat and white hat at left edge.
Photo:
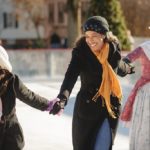
M 32 92 L 11 70 L 8 55 L 0 46 L 0 150 L 22 150 L 24 147 L 22 128 L 16 116 L 16 98 L 41 111 L 50 111 L 56 102 Z

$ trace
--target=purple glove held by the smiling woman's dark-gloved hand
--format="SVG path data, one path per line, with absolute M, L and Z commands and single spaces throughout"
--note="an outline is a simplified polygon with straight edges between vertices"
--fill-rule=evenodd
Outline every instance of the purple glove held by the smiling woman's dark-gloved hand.
M 46 109 L 46 111 L 51 112 L 52 109 L 53 109 L 53 106 L 55 105 L 55 103 L 57 103 L 57 102 L 59 102 L 59 101 L 60 101 L 59 98 L 55 98 L 55 99 L 53 99 L 53 100 L 50 100 L 50 101 L 49 101 L 49 104 L 48 104 L 48 108 Z M 60 111 L 57 113 L 57 115 L 60 116 L 60 115 L 63 113 L 63 110 L 64 110 L 64 109 L 60 109 Z

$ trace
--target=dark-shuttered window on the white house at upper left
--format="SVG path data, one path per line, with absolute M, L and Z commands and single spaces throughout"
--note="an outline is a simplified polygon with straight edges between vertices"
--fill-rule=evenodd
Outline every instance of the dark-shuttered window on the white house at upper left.
M 3 27 L 4 28 L 18 28 L 18 20 L 13 13 L 3 13 Z

